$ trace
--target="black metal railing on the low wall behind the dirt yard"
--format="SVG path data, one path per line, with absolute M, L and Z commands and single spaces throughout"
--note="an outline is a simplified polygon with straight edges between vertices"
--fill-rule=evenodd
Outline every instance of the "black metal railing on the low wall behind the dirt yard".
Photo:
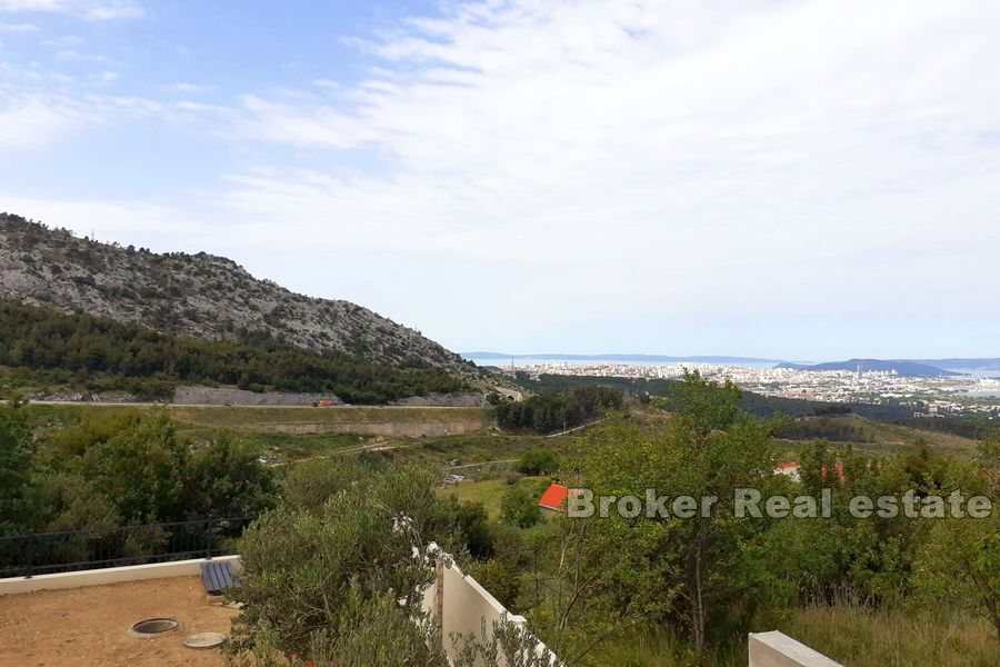
M 236 554 L 257 517 L 0 537 L 0 579 Z

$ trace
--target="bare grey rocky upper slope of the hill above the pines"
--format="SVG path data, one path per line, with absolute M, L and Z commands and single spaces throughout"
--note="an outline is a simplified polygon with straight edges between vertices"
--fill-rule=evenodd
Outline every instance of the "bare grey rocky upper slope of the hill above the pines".
M 273 338 L 310 351 L 470 370 L 418 331 L 349 301 L 293 293 L 229 259 L 100 243 L 9 213 L 0 213 L 0 296 L 199 338 Z

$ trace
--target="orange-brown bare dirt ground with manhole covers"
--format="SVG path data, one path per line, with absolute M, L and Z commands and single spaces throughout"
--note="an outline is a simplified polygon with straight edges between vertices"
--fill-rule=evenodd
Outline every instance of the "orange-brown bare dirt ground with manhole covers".
M 210 606 L 199 577 L 42 590 L 0 597 L 0 666 L 218 667 L 219 649 L 181 643 L 194 633 L 229 635 L 233 609 Z M 140 639 L 129 628 L 147 618 L 177 620 L 177 630 Z

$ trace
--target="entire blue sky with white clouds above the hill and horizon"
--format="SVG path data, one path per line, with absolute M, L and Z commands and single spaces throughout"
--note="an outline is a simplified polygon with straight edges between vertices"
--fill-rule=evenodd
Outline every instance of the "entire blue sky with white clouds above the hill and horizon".
M 457 351 L 1000 356 L 994 0 L 0 0 L 0 210 Z

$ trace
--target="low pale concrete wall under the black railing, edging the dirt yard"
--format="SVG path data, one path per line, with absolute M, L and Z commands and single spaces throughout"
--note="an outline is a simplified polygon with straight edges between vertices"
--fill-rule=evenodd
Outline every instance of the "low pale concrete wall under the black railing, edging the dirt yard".
M 219 556 L 212 561 L 229 561 L 239 570 L 239 556 Z M 171 577 L 190 577 L 201 574 L 201 564 L 207 560 L 176 560 L 173 563 L 153 563 L 150 565 L 130 565 L 127 567 L 109 567 L 76 573 L 58 573 L 37 577 L 14 577 L 0 579 L 0 595 L 33 593 L 36 590 L 56 590 L 60 588 L 83 588 L 86 586 L 104 586 L 122 581 L 140 581 L 142 579 L 169 579 Z

